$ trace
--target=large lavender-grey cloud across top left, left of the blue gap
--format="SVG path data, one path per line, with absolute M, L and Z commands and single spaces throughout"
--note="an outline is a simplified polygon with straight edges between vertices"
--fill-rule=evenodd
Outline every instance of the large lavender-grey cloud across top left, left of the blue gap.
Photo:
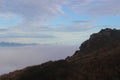
M 47 17 L 54 17 L 64 13 L 59 4 L 53 1 L 51 2 L 50 0 L 2 0 L 0 5 L 1 12 L 13 12 L 23 15 L 28 19 L 36 19 L 39 17 L 44 20 L 47 19 Z

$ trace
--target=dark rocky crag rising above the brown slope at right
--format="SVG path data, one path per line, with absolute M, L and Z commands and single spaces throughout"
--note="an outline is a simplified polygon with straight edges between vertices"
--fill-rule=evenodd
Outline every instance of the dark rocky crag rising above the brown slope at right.
M 98 33 L 94 33 L 88 40 L 83 42 L 80 50 L 76 51 L 74 55 L 80 53 L 91 53 L 96 50 L 109 50 L 120 45 L 120 30 L 116 29 L 102 29 Z

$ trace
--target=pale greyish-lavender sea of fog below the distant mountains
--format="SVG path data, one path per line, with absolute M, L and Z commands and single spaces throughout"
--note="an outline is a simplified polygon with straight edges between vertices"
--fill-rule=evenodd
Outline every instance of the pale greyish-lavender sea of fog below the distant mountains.
M 78 47 L 75 45 L 0 47 L 0 75 L 49 60 L 64 59 L 73 55 Z

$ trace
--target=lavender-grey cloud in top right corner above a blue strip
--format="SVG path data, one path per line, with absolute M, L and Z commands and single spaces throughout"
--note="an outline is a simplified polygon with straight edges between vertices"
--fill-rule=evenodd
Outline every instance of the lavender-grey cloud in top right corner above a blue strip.
M 90 16 L 120 15 L 119 0 L 71 0 L 70 10 Z

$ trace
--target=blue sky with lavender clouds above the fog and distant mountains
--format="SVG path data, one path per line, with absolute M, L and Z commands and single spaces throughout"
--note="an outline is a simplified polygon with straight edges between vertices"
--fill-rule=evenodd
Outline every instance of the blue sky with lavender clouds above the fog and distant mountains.
M 0 41 L 80 44 L 120 27 L 119 0 L 0 0 Z

